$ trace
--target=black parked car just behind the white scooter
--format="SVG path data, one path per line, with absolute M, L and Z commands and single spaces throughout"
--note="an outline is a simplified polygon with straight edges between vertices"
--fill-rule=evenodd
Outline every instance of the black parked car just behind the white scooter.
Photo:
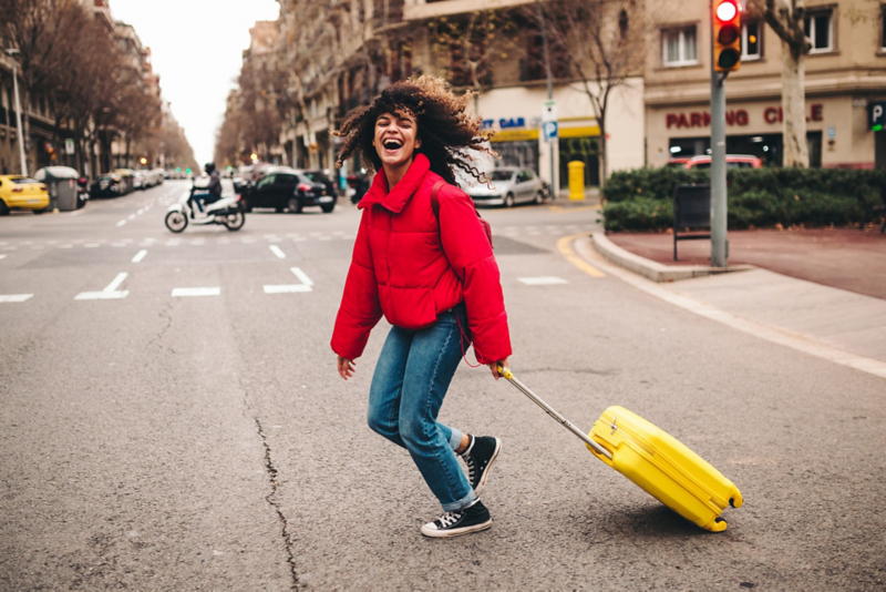
M 272 207 L 300 213 L 307 206 L 318 205 L 324 213 L 336 207 L 336 194 L 329 194 L 323 183 L 311 181 L 302 171 L 287 166 L 268 169 L 255 185 L 245 187 L 243 201 L 246 211 L 254 207 Z

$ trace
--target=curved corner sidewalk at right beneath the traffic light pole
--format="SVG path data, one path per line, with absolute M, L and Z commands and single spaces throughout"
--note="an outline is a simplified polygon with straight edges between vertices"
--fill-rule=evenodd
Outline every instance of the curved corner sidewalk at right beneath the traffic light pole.
M 681 242 L 674 265 L 669 234 L 598 232 L 576 251 L 677 306 L 886 378 L 886 236 L 746 231 L 729 239 L 728 271 L 736 273 L 707 266 L 709 241 Z

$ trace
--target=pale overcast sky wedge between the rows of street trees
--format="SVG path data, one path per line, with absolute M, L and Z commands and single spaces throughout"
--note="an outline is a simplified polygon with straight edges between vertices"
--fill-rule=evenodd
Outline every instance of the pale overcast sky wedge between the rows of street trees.
M 276 0 L 111 0 L 114 19 L 151 48 L 163 98 L 197 162 L 209 162 L 225 99 L 240 72 L 255 21 L 277 20 Z

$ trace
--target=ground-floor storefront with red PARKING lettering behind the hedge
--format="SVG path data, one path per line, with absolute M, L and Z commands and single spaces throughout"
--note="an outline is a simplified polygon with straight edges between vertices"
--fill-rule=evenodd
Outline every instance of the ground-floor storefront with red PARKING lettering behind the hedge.
M 868 98 L 807 96 L 806 145 L 811 166 L 873 169 L 875 134 L 866 122 Z M 727 154 L 752 154 L 766 164 L 783 159 L 781 99 L 727 102 Z M 710 154 L 710 104 L 647 105 L 647 162 Z M 882 142 L 880 142 L 882 143 Z M 884 154 L 886 161 L 886 154 Z

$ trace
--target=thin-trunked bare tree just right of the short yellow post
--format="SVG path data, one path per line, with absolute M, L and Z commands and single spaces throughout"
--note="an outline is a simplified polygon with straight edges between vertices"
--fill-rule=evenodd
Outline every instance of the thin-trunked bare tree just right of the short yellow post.
M 525 14 L 547 35 L 546 68 L 565 70 L 590 101 L 600 127 L 602 185 L 609 174 L 606 114 L 612 91 L 640 74 L 646 60 L 649 20 L 642 3 L 549 0 L 527 7 Z

